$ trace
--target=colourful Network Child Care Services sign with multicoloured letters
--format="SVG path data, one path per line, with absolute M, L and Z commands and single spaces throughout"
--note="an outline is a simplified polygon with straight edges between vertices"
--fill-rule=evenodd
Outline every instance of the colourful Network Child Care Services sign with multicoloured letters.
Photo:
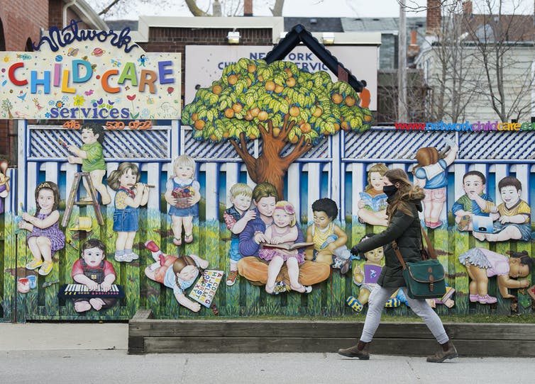
M 35 52 L 0 52 L 2 119 L 178 119 L 180 53 L 144 52 L 128 28 L 51 28 Z

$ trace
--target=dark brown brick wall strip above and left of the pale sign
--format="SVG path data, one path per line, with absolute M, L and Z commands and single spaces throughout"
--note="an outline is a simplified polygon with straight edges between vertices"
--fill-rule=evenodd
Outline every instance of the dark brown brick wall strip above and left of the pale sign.
M 186 45 L 228 45 L 231 28 L 150 28 L 149 42 L 140 44 L 146 52 L 182 53 L 182 95 L 184 95 Z M 271 28 L 238 28 L 241 45 L 272 45 Z

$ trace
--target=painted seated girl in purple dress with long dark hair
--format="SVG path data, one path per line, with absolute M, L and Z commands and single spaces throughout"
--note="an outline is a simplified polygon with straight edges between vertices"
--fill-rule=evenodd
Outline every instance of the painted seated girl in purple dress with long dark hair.
M 46 276 L 53 268 L 52 256 L 65 247 L 65 234 L 58 227 L 60 211 L 60 188 L 52 181 L 40 183 L 35 188 L 35 216 L 22 214 L 18 227 L 30 231 L 26 244 L 33 254 L 33 260 L 26 264 L 26 269 L 39 269 L 41 276 Z

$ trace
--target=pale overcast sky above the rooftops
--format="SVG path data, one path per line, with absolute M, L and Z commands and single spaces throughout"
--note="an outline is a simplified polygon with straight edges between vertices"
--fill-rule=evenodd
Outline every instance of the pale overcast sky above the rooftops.
M 103 8 L 102 4 L 109 4 L 109 0 L 86 0 L 91 6 L 99 11 Z M 126 1 L 127 0 L 123 0 Z M 128 0 L 128 9 L 126 14 L 121 16 L 109 17 L 109 19 L 124 18 L 137 20 L 138 16 L 192 16 L 183 0 L 164 0 L 169 6 L 155 6 L 162 4 L 163 1 L 139 2 Z M 454 0 L 452 0 L 454 1 Z M 474 10 L 482 9 L 482 4 L 487 0 L 473 0 Z M 497 3 L 497 0 L 491 0 Z M 209 9 L 212 0 L 198 0 L 199 8 Z M 232 0 L 220 1 L 223 9 L 230 7 Z M 234 1 L 236 3 L 236 1 Z M 267 4 L 266 4 L 267 3 Z M 271 16 L 268 4 L 274 4 L 274 0 L 253 0 L 254 16 Z M 410 8 L 407 11 L 407 17 L 425 16 L 426 0 L 405 0 Z M 515 13 L 532 13 L 534 11 L 533 0 L 502 0 L 507 12 L 513 8 L 514 4 L 519 4 L 520 11 Z M 414 9 L 420 9 L 414 11 Z M 506 12 L 506 13 L 507 13 Z M 478 12 L 481 13 L 481 12 Z M 398 17 L 399 1 L 398 0 L 285 0 L 285 6 L 282 16 L 287 17 Z

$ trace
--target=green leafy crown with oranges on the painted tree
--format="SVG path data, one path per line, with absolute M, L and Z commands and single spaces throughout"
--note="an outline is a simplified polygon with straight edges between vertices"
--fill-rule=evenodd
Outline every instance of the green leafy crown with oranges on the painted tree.
M 372 114 L 358 106 L 358 94 L 344 81 L 333 83 L 324 71 L 309 72 L 292 62 L 241 58 L 223 70 L 221 79 L 197 91 L 194 101 L 184 107 L 182 123 L 191 125 L 198 140 L 219 142 L 260 137 L 258 124 L 269 119 L 282 129 L 285 117 L 295 125 L 287 141 L 304 135 L 316 144 L 339 130 L 363 131 Z

